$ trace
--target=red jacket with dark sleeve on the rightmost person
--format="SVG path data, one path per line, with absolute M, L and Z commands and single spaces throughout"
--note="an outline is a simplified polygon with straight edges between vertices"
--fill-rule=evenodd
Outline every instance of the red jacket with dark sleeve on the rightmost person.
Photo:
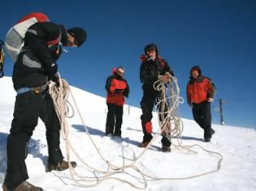
M 206 77 L 199 76 L 197 79 L 191 79 L 187 85 L 187 101 L 189 104 L 200 104 L 209 97 L 213 98 L 215 88 Z

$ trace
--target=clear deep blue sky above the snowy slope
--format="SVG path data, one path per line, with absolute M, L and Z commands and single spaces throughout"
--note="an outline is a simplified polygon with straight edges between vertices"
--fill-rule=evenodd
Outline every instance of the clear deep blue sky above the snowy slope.
M 131 87 L 128 104 L 139 106 L 140 54 L 146 44 L 158 45 L 160 55 L 174 70 L 181 96 L 189 70 L 198 65 L 215 81 L 213 122 L 219 98 L 227 125 L 256 128 L 256 1 L 14 1 L 1 2 L 0 39 L 13 23 L 33 11 L 67 28 L 82 27 L 88 40 L 80 49 L 68 49 L 59 59 L 59 71 L 73 86 L 106 96 L 105 80 L 115 66 L 124 66 Z M 12 74 L 7 58 L 5 72 Z M 1 80 L 1 79 L 0 79 Z M 2 92 L 2 91 L 1 91 Z M 187 104 L 181 117 L 192 118 Z

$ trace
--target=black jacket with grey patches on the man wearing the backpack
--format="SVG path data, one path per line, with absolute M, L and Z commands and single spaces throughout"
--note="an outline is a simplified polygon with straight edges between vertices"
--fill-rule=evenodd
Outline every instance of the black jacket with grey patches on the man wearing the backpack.
M 35 23 L 25 34 L 24 48 L 15 62 L 12 80 L 15 90 L 44 85 L 58 71 L 56 61 L 67 45 L 67 31 L 51 22 Z

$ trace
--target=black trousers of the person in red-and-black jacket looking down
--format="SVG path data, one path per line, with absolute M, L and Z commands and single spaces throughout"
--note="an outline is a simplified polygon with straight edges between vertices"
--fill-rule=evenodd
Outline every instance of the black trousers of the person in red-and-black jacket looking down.
M 108 112 L 106 115 L 106 135 L 111 134 L 121 137 L 123 123 L 123 106 L 107 104 Z

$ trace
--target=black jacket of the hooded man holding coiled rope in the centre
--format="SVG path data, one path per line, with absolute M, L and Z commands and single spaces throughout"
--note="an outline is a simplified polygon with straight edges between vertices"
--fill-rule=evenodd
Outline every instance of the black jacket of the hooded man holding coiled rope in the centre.
M 143 90 L 153 89 L 153 84 L 158 80 L 158 75 L 163 75 L 169 72 L 172 76 L 173 71 L 168 65 L 167 61 L 161 57 L 157 57 L 153 61 L 150 57 L 141 58 L 141 69 L 140 69 L 140 79 L 143 83 Z

